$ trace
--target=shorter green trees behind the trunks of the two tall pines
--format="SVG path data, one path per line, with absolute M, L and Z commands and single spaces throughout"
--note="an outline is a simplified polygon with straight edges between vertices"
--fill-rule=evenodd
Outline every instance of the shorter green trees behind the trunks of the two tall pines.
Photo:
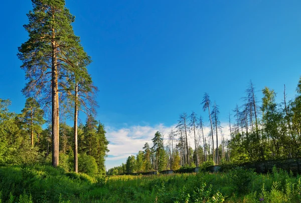
M 51 125 L 44 120 L 39 103 L 28 98 L 20 114 L 10 112 L 10 100 L 0 99 L 0 165 L 50 165 L 52 160 Z M 61 117 L 63 118 L 63 117 Z M 47 126 L 43 129 L 43 126 Z M 79 172 L 105 174 L 108 141 L 104 125 L 89 116 L 78 126 Z M 60 167 L 74 166 L 74 126 L 62 122 L 59 128 Z

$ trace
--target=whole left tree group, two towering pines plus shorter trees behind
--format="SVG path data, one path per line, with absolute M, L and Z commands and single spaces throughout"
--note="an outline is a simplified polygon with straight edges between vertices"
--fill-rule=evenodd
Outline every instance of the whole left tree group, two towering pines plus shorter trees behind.
M 10 100 L 0 99 L 0 164 L 51 162 L 103 174 L 108 141 L 94 119 L 98 90 L 87 69 L 91 57 L 73 32 L 75 17 L 64 0 L 33 0 L 32 6 L 24 25 L 28 39 L 17 54 L 27 100 L 16 114 L 9 111 Z M 87 119 L 78 126 L 80 112 Z

